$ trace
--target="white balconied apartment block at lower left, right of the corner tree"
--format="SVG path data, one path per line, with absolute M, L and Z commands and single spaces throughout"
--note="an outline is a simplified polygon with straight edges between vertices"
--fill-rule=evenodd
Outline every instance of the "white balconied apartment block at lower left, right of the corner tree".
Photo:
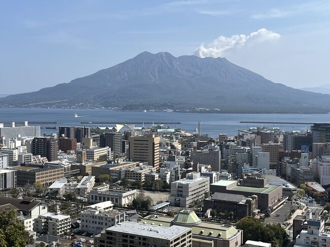
M 38 233 L 47 233 L 53 236 L 60 236 L 71 228 L 69 215 L 58 215 L 47 213 L 35 219 L 34 230 Z

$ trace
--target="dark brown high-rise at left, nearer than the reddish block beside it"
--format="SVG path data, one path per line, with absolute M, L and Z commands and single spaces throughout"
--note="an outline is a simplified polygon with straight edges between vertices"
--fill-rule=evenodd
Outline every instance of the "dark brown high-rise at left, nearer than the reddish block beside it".
M 48 161 L 57 160 L 57 139 L 35 137 L 32 140 L 32 154 L 46 157 Z

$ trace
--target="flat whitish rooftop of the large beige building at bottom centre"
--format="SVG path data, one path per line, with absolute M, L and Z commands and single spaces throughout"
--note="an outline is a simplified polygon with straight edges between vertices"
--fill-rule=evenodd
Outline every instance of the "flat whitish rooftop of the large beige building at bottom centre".
M 171 240 L 176 238 L 178 235 L 189 231 L 191 228 L 182 226 L 151 226 L 142 223 L 125 221 L 107 229 L 119 233 L 136 234 Z

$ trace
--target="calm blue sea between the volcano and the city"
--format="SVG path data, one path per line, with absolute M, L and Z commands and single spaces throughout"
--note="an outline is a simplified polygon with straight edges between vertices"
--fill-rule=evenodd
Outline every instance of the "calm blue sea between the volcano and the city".
M 80 117 L 75 118 L 77 113 Z M 241 124 L 240 121 L 274 121 L 274 122 L 330 122 L 330 114 L 199 114 L 199 113 L 167 113 L 167 112 L 117 112 L 111 110 L 67 110 L 67 109 L 23 109 L 0 108 L 0 122 L 11 121 L 56 121 L 56 126 L 79 126 L 81 121 L 91 122 L 181 122 L 172 125 L 192 132 L 202 121 L 202 133 L 217 137 L 219 133 L 237 135 L 237 130 L 261 126 L 258 124 Z M 54 126 L 40 124 L 41 126 Z M 95 125 L 91 125 L 94 127 Z M 106 126 L 106 125 L 101 125 Z M 137 125 L 138 126 L 138 125 Z M 146 125 L 147 126 L 147 125 Z M 278 127 L 282 130 L 310 129 L 305 125 L 263 125 Z M 55 133 L 54 129 L 42 129 L 42 133 Z

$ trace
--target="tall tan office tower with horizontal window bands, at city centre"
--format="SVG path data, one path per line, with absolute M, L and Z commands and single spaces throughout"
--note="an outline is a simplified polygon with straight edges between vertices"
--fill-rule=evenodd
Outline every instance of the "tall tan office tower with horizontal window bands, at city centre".
M 129 137 L 129 159 L 148 162 L 149 165 L 158 169 L 159 139 L 159 136 L 155 136 L 154 134 Z

